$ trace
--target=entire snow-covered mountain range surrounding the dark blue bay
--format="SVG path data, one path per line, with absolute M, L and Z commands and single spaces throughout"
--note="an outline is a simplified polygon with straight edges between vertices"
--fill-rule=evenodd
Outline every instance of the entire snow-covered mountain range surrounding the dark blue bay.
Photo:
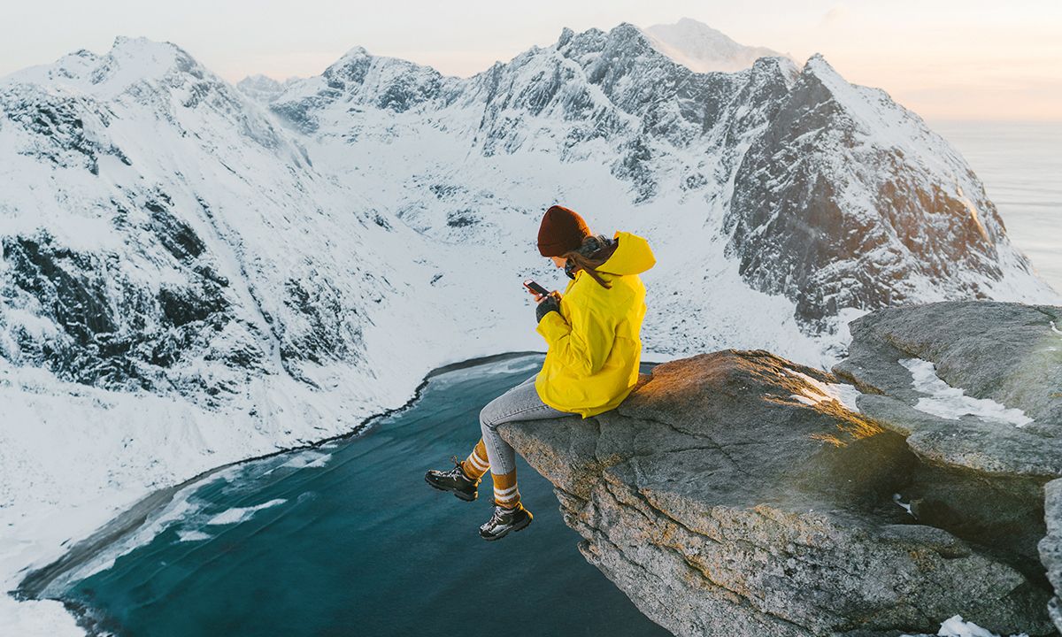
M 149 488 L 541 350 L 553 203 L 649 238 L 647 360 L 826 365 L 885 305 L 1059 303 L 958 153 L 821 57 L 697 73 L 621 24 L 468 79 L 356 48 L 240 86 L 136 38 L 0 80 L 0 582 Z

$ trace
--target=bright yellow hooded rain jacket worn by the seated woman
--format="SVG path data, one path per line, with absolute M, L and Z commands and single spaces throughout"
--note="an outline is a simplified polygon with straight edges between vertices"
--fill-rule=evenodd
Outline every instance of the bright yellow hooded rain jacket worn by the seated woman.
M 616 252 L 598 269 L 611 289 L 580 270 L 535 328 L 549 349 L 534 386 L 543 402 L 583 418 L 617 407 L 638 381 L 646 288 L 638 274 L 656 263 L 649 243 L 617 231 Z

